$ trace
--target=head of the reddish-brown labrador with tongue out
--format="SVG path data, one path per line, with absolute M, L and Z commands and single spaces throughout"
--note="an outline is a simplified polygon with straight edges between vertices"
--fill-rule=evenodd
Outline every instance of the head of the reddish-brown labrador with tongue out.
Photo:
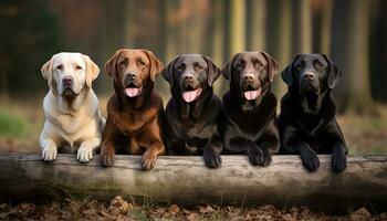
M 121 49 L 105 63 L 116 93 L 127 97 L 140 96 L 150 88 L 163 67 L 153 52 L 143 49 Z

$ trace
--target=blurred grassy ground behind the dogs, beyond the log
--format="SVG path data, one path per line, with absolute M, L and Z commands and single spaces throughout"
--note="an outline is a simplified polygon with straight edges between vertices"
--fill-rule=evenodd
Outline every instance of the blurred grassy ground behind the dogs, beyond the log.
M 39 135 L 44 122 L 43 95 L 38 98 L 0 98 L 0 151 L 39 151 Z M 108 97 L 100 98 L 106 116 Z M 387 155 L 387 106 L 379 106 L 379 115 L 337 116 L 351 155 Z

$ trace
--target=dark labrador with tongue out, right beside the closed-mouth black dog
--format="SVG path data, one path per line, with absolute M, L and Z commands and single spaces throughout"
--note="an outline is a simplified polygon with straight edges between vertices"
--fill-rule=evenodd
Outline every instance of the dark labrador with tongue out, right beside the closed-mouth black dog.
M 220 127 L 224 152 L 243 152 L 252 165 L 270 165 L 271 154 L 280 148 L 276 98 L 270 91 L 278 63 L 265 52 L 244 52 L 236 54 L 221 72 L 230 81 Z

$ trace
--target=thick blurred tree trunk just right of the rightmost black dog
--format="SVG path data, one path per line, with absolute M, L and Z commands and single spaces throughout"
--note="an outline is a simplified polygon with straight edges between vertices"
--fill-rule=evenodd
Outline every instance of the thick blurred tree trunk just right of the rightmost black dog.
M 337 88 L 341 112 L 375 110 L 369 84 L 368 17 L 367 0 L 335 2 L 332 50 L 333 60 L 344 73 Z

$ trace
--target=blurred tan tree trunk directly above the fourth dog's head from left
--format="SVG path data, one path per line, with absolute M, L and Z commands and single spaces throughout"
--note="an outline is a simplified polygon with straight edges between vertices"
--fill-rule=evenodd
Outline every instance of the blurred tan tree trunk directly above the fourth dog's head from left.
M 249 51 L 265 50 L 266 0 L 247 1 L 247 43 Z

